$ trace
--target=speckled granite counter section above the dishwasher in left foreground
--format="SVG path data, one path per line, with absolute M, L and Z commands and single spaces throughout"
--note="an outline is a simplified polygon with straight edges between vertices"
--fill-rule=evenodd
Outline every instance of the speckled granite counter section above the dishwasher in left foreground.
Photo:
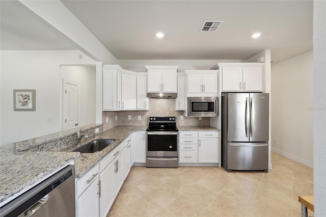
M 0 153 L 0 202 L 19 193 L 79 156 L 79 152 Z

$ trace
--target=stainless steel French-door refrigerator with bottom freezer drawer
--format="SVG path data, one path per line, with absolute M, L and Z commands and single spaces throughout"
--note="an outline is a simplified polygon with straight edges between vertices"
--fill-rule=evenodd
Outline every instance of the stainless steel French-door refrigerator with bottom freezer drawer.
M 222 167 L 268 172 L 269 94 L 222 96 Z

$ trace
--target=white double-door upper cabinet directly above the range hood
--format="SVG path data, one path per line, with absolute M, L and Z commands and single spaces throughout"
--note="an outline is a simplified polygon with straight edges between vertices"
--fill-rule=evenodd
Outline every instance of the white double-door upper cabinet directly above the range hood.
M 145 66 L 148 93 L 176 93 L 179 66 Z

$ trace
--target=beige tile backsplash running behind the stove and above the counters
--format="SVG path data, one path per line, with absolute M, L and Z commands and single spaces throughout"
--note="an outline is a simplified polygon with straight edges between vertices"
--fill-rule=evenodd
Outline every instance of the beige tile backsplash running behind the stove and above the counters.
M 149 99 L 149 111 L 119 111 L 119 112 L 102 112 L 103 130 L 110 129 L 121 125 L 148 125 L 150 116 L 172 116 L 176 117 L 177 126 L 210 126 L 210 118 L 202 117 L 186 117 L 180 120 L 183 111 L 175 110 L 176 99 Z M 131 115 L 131 120 L 128 120 L 128 115 Z M 141 120 L 138 120 L 138 116 Z M 116 121 L 115 117 L 118 120 Z M 106 123 L 106 118 L 108 123 Z

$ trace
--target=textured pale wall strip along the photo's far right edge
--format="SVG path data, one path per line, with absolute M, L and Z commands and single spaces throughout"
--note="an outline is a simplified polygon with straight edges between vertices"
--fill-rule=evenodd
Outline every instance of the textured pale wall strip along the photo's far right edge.
M 326 2 L 314 1 L 314 205 L 326 216 Z

